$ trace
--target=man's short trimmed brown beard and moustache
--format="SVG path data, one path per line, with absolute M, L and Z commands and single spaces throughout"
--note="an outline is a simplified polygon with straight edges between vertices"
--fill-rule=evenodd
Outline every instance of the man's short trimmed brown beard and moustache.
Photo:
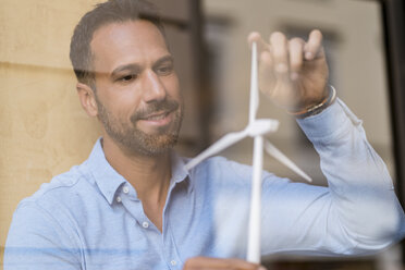
M 98 119 L 101 121 L 107 134 L 132 154 L 156 156 L 174 147 L 177 143 L 180 127 L 183 120 L 183 105 L 173 99 L 154 101 L 145 109 L 137 110 L 131 115 L 131 123 L 121 122 L 115 118 L 95 95 Z M 180 108 L 179 108 L 180 107 Z M 147 134 L 136 127 L 138 120 L 147 118 L 155 112 L 174 113 L 170 126 L 162 126 L 157 134 Z

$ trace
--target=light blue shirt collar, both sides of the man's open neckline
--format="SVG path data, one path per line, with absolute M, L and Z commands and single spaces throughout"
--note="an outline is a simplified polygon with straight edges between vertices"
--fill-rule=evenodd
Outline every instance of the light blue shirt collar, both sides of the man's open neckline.
M 111 205 L 114 200 L 116 189 L 127 181 L 118 173 L 107 161 L 105 151 L 101 146 L 101 138 L 99 138 L 94 146 L 91 154 L 87 160 L 91 174 L 100 188 L 100 192 Z M 181 158 L 175 151 L 171 151 L 172 161 L 172 177 L 170 183 L 170 189 L 173 188 L 177 183 L 181 183 L 189 179 L 188 171 L 185 169 L 183 158 Z M 192 191 L 192 185 L 188 183 L 188 192 Z

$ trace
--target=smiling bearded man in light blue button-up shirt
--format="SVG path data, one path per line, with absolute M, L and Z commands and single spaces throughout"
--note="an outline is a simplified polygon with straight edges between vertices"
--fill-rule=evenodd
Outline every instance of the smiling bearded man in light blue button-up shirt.
M 102 123 L 87 161 L 15 211 L 4 269 L 261 269 L 246 253 L 251 170 L 171 151 L 183 105 L 163 29 L 142 0 L 110 0 L 76 26 L 71 60 L 84 110 Z M 360 122 L 327 87 L 321 34 L 272 34 L 260 87 L 295 114 L 329 188 L 263 173 L 262 254 L 364 255 L 404 234 L 404 213 Z M 213 258 L 216 257 L 216 258 Z

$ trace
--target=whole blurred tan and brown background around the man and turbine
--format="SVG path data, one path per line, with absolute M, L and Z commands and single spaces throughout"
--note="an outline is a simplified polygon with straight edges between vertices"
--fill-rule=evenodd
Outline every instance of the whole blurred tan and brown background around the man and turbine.
M 17 202 L 44 182 L 84 161 L 99 125 L 82 110 L 69 61 L 75 24 L 96 0 L 0 0 L 0 246 Z M 155 0 L 161 10 L 184 93 L 186 113 L 177 150 L 193 157 L 248 120 L 251 30 L 307 38 L 324 35 L 330 83 L 364 120 L 368 139 L 385 161 L 400 195 L 404 182 L 404 54 L 395 0 Z M 398 21 L 400 20 L 400 21 Z M 402 47 L 401 45 L 404 45 Z M 268 136 L 326 185 L 319 158 L 295 120 L 263 96 L 259 115 L 280 121 Z M 253 140 L 221 155 L 251 163 Z M 303 180 L 266 157 L 280 176 Z M 401 181 L 402 180 L 402 181 Z M 378 217 L 379 218 L 379 217 Z M 27 224 L 28 225 L 28 224 Z M 404 269 L 394 246 L 367 258 L 263 258 L 271 269 Z M 1 256 L 2 259 L 2 256 Z

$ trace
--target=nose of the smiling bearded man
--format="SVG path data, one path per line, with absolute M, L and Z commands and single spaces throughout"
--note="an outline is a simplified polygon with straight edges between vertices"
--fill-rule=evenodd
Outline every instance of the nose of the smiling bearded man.
M 146 72 L 144 90 L 144 101 L 147 103 L 163 100 L 167 95 L 164 85 L 154 71 Z

